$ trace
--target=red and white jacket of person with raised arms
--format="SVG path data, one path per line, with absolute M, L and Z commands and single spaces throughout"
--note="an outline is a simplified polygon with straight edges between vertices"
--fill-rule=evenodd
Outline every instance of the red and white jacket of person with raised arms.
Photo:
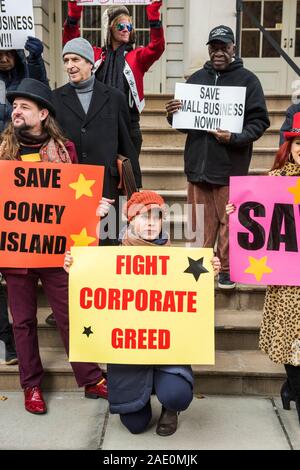
M 147 5 L 147 16 L 149 21 L 159 20 L 159 8 L 162 2 Z M 151 24 L 150 24 L 151 26 Z M 80 36 L 79 23 L 71 26 L 67 21 L 64 23 L 63 45 L 71 39 Z M 94 46 L 95 71 L 105 61 L 105 49 Z M 145 107 L 144 75 L 163 54 L 165 50 L 165 37 L 163 27 L 150 27 L 150 42 L 145 47 L 136 47 L 125 56 L 124 75 L 130 87 L 132 96 L 139 112 Z

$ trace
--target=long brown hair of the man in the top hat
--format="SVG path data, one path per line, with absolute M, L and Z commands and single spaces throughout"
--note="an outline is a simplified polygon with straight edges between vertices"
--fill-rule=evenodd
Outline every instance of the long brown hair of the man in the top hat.
M 38 105 L 39 109 L 43 109 Z M 42 123 L 43 132 L 47 133 L 50 138 L 59 144 L 65 144 L 68 139 L 64 137 L 56 123 L 54 117 L 49 114 Z M 13 123 L 10 122 L 7 128 L 1 134 L 0 160 L 16 160 L 19 152 L 20 144 L 16 137 Z

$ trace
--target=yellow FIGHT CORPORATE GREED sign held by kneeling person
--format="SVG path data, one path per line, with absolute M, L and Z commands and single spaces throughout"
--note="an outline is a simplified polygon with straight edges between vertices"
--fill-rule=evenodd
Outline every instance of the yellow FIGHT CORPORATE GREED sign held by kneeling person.
M 211 249 L 75 247 L 70 361 L 214 364 Z

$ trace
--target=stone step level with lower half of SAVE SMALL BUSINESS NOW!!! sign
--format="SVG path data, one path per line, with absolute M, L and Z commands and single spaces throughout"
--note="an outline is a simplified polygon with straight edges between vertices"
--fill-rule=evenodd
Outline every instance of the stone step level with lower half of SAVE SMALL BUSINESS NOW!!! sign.
M 272 127 L 280 128 L 285 120 L 285 109 L 269 109 L 269 118 Z M 162 108 L 145 109 L 141 115 L 142 127 L 170 127 L 166 111 Z

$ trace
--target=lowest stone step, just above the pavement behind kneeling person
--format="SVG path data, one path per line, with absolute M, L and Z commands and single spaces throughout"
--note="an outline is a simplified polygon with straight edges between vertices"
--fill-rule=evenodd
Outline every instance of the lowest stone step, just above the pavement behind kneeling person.
M 59 348 L 41 348 L 45 369 L 43 389 L 78 390 L 65 352 Z M 217 351 L 215 366 L 193 366 L 195 394 L 278 395 L 284 380 L 282 366 L 273 364 L 260 351 Z M 17 366 L 0 365 L 0 390 L 19 390 Z

